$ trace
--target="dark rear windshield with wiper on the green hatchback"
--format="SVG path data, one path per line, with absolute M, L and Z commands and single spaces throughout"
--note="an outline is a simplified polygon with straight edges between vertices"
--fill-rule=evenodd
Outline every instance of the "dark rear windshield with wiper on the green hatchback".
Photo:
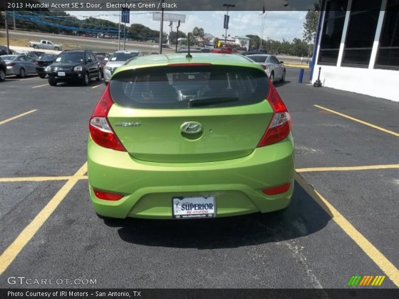
M 237 66 L 152 67 L 116 73 L 112 99 L 133 108 L 232 107 L 263 101 L 264 71 Z

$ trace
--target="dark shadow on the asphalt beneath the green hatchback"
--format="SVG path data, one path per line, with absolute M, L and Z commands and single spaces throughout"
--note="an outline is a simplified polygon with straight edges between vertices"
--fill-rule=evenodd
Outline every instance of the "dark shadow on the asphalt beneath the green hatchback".
M 284 213 L 250 214 L 198 220 L 104 220 L 122 240 L 146 246 L 234 248 L 295 239 L 324 228 L 330 215 L 295 183 L 292 202 Z

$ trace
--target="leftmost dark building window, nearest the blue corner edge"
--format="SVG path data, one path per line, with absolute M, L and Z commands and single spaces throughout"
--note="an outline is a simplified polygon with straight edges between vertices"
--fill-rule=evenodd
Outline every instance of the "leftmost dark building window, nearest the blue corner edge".
M 318 64 L 336 65 L 348 0 L 326 2 Z

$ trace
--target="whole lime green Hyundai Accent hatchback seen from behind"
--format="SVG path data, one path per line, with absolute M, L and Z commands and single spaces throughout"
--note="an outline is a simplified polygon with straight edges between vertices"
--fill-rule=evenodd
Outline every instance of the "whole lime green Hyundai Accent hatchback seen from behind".
M 264 70 L 241 55 L 192 56 L 138 57 L 113 74 L 89 122 L 99 216 L 224 217 L 290 203 L 291 117 Z

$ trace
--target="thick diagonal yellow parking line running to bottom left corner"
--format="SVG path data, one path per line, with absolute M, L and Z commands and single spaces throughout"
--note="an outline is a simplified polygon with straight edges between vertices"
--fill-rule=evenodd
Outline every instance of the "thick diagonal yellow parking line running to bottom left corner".
M 0 256 L 0 275 L 12 263 L 15 257 L 21 252 L 23 247 L 36 234 L 43 223 L 54 212 L 56 207 L 73 188 L 79 178 L 86 173 L 87 162 L 70 179 L 62 186 L 62 188 L 54 195 L 46 206 L 33 218 L 33 220 L 22 230 L 16 239 L 4 250 Z

